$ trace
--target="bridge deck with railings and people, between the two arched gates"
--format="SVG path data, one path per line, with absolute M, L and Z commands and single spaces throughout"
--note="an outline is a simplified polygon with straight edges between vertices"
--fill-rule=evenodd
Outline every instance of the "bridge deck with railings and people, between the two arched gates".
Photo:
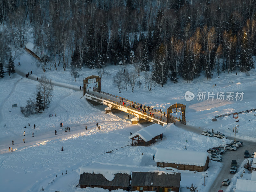
M 126 106 L 123 106 L 122 100 L 121 100 L 121 103 L 120 103 L 121 97 L 118 97 L 116 95 L 112 95 L 112 94 L 109 94 L 109 93 L 106 93 L 106 92 L 100 92 L 100 93 L 99 92 L 89 92 L 89 93 L 86 92 L 85 96 L 87 98 L 88 97 L 90 97 L 90 98 L 93 97 L 93 98 L 96 99 L 96 101 L 97 100 L 105 101 L 106 103 L 104 103 L 104 104 L 106 104 L 106 105 L 112 103 L 113 108 L 118 108 L 119 110 L 124 111 L 126 113 L 130 113 L 132 115 L 134 115 L 134 114 L 139 115 L 140 118 L 144 117 L 143 119 L 146 119 L 150 122 L 154 121 L 155 123 L 158 122 L 162 125 L 167 124 L 167 117 L 166 117 L 167 114 L 165 114 L 165 116 L 164 116 L 164 113 L 162 111 L 160 112 L 159 110 L 151 108 L 150 111 L 147 110 L 146 113 L 144 113 L 142 109 L 138 110 L 138 109 L 132 108 L 132 104 L 140 106 L 140 103 L 137 103 L 137 102 L 134 102 L 134 101 L 123 98 L 123 102 L 126 103 Z M 99 101 L 97 101 L 97 102 L 99 102 Z M 131 104 L 131 107 L 129 107 L 130 104 Z M 144 106 L 144 105 L 142 105 L 142 106 Z M 146 108 L 147 108 L 147 106 L 146 106 Z M 150 115 L 149 114 L 150 112 L 151 112 L 151 114 L 154 113 L 155 116 Z

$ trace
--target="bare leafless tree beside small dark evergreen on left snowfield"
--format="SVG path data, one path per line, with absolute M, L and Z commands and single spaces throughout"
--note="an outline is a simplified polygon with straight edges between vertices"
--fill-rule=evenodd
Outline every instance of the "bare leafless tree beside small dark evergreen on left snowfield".
M 41 76 L 39 84 L 36 85 L 36 92 L 40 91 L 43 99 L 43 110 L 48 108 L 53 97 L 53 83 L 51 79 L 47 79 L 46 76 Z

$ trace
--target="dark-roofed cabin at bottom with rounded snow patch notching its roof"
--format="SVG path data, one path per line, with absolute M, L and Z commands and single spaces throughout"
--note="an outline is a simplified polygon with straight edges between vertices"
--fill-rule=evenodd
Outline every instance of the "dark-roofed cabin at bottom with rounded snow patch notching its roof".
M 130 175 L 127 173 L 116 174 L 95 174 L 95 173 L 83 173 L 80 175 L 79 185 L 80 188 L 103 188 L 111 190 L 123 189 L 129 191 Z

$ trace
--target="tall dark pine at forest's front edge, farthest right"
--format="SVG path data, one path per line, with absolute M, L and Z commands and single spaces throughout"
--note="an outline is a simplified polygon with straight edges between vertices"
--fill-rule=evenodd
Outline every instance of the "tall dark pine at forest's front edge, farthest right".
M 254 68 L 254 64 L 252 61 L 252 50 L 248 44 L 247 34 L 244 32 L 244 36 L 242 39 L 241 51 L 239 55 L 239 65 L 240 71 L 250 71 Z

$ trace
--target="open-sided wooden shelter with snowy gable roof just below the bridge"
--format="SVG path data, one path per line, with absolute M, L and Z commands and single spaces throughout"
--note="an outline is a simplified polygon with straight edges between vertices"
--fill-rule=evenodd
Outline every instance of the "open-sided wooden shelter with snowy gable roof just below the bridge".
M 132 140 L 132 146 L 149 146 L 162 140 L 165 129 L 160 124 L 152 124 L 135 132 L 129 139 Z

